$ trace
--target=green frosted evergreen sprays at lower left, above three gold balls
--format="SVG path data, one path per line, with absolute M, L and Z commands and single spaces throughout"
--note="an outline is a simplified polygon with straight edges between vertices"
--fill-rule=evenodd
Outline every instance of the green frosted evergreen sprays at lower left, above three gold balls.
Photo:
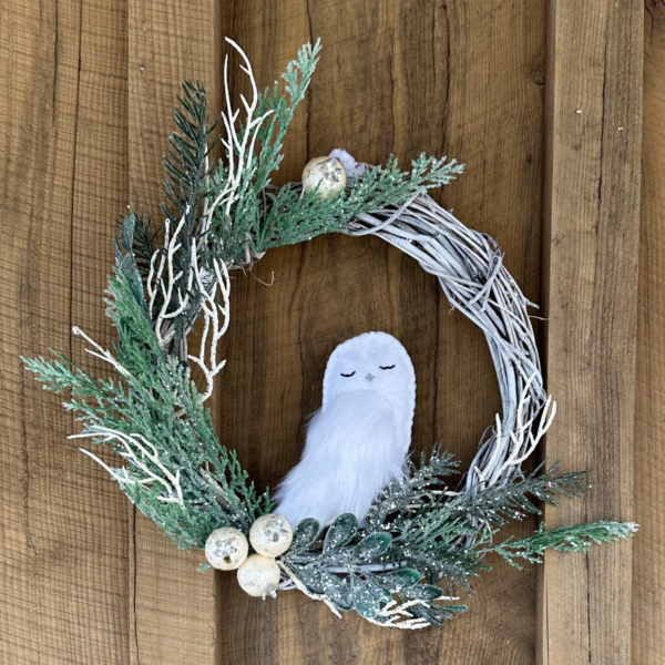
M 223 268 L 217 277 L 227 289 Z M 94 381 L 62 355 L 59 361 L 35 359 L 27 366 L 50 388 L 71 389 L 66 407 L 84 422 L 81 436 L 113 443 L 129 462 L 127 470 L 110 472 L 140 510 L 180 546 L 203 546 L 219 525 L 248 530 L 256 516 L 269 511 L 269 499 L 267 493 L 256 494 L 235 452 L 219 444 L 190 369 L 161 350 L 143 294 L 134 284 L 120 267 L 110 279 L 108 313 L 120 335 L 116 356 L 95 346 L 116 371 L 123 368 L 121 381 Z M 106 436 L 100 436 L 103 432 Z M 180 495 L 176 470 L 183 502 L 165 502 L 164 498 Z M 173 491 L 157 491 L 157 485 L 165 490 L 157 478 Z

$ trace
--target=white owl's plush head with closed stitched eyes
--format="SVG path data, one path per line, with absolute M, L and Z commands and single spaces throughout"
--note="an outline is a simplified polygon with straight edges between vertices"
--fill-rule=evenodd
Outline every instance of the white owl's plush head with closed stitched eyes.
M 416 372 L 407 349 L 392 335 L 365 332 L 347 339 L 330 354 L 321 410 L 349 392 L 374 392 L 386 398 L 408 446 L 416 409 Z

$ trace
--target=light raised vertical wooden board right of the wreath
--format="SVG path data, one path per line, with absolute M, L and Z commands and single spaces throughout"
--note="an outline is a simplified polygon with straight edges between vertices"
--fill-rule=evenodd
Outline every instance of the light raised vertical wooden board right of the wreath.
M 633 516 L 643 4 L 550 6 L 543 273 L 546 454 L 589 469 L 584 501 L 548 525 Z M 548 553 L 539 662 L 625 664 L 632 541 Z

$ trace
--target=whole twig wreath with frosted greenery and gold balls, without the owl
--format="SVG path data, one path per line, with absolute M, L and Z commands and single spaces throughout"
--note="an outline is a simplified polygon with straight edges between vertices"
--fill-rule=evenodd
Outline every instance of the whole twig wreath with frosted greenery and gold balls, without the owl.
M 201 570 L 237 569 L 252 595 L 296 587 L 336 614 L 356 610 L 383 626 L 440 626 L 463 612 L 459 592 L 470 593 L 470 581 L 489 570 L 489 552 L 520 567 L 541 562 L 546 549 L 586 551 L 591 542 L 633 534 L 633 523 L 551 530 L 541 523 L 529 538 L 497 542 L 509 521 L 540 514 L 538 502 L 555 505 L 586 484 L 584 472 L 560 473 L 556 464 L 521 470 L 555 403 L 543 386 L 531 304 L 497 243 L 427 195 L 462 166 L 421 155 L 403 172 L 392 156 L 369 166 L 336 151 L 310 162 L 303 183 L 276 187 L 270 176 L 320 44 L 300 49 L 282 76 L 284 89 L 276 82 L 259 93 L 247 57 L 226 41 L 248 78 L 248 99 L 241 95 L 239 108 L 232 103 L 228 57 L 226 108 L 217 122 L 208 121 L 203 84 L 183 84 L 164 158 L 164 223 L 130 211 L 114 238 L 105 303 L 117 342 L 111 352 L 73 328 L 112 376 L 93 379 L 59 352 L 51 361 L 24 359 L 49 389 L 71 391 L 64 406 L 83 422 L 72 438 L 112 446 L 123 464 L 112 468 L 83 452 L 178 548 L 205 549 L 209 563 Z M 437 276 L 451 307 L 487 337 L 503 417 L 485 432 L 466 474 L 459 477 L 459 462 L 437 444 L 407 460 L 402 477 L 376 497 L 360 523 L 346 513 L 328 525 L 305 519 L 291 530 L 270 512 L 268 490 L 258 493 L 236 453 L 219 443 L 204 403 L 225 362 L 217 346 L 229 321 L 229 272 L 250 268 L 273 247 L 325 233 L 379 236 Z

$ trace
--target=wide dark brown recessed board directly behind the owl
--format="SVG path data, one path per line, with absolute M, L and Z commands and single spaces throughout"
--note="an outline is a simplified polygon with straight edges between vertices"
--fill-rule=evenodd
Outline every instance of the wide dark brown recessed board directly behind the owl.
M 538 299 L 544 3 L 247 2 L 225 20 L 262 84 L 303 42 L 323 39 L 280 182 L 337 146 L 374 163 L 390 152 L 402 163 L 422 151 L 457 156 L 468 173 L 446 192 L 447 205 L 499 239 Z M 415 447 L 442 438 L 470 461 L 500 408 L 482 335 L 450 315 L 436 282 L 398 250 L 377 238 L 327 236 L 235 275 L 221 431 L 259 487 L 274 487 L 297 461 L 329 354 L 370 329 L 399 337 L 413 359 Z M 219 662 L 532 663 L 534 571 L 491 563 L 468 615 L 419 634 L 386 632 L 354 613 L 340 621 L 297 593 L 257 602 L 221 574 Z

